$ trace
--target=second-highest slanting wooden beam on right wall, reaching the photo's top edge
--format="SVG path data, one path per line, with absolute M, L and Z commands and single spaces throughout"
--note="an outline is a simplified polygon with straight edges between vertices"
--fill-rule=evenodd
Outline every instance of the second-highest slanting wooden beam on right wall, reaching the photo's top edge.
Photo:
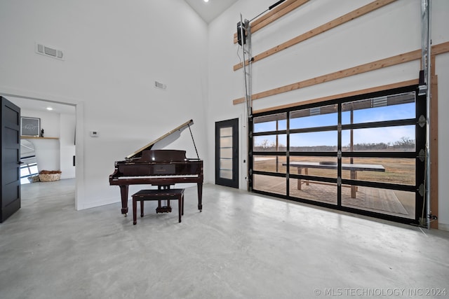
M 311 37 L 317 36 L 318 34 L 321 34 L 323 32 L 326 32 L 330 29 L 333 29 L 337 26 L 340 26 L 346 22 L 349 22 L 351 20 L 354 20 L 358 17 L 361 17 L 362 15 L 366 15 L 367 13 L 370 13 L 371 11 L 375 11 L 377 8 L 381 8 L 382 6 L 386 6 L 387 4 L 391 4 L 391 2 L 394 2 L 396 0 L 377 0 L 373 1 L 370 4 L 367 4 L 366 6 L 362 6 L 361 8 L 356 9 L 355 11 L 351 11 L 350 13 L 347 13 L 346 15 L 342 15 L 340 18 L 336 18 L 330 22 L 327 22 L 324 25 L 321 25 L 319 27 L 316 27 L 315 29 L 311 29 L 309 32 L 306 32 L 304 34 L 301 34 L 299 36 L 296 36 L 293 39 L 290 39 L 290 41 L 286 41 L 284 43 L 281 43 L 280 45 L 271 48 L 269 50 L 266 50 L 264 53 L 260 53 L 258 55 L 255 55 L 253 57 L 253 62 L 257 62 L 258 60 L 262 60 L 266 57 L 269 57 L 275 53 L 280 52 L 281 50 L 286 50 L 286 48 L 290 48 L 291 46 L 296 45 L 297 43 L 300 43 L 302 41 L 305 41 L 307 39 L 310 39 Z M 248 60 L 245 62 L 248 64 Z M 243 62 L 234 65 L 234 71 L 237 69 L 241 69 L 243 67 Z

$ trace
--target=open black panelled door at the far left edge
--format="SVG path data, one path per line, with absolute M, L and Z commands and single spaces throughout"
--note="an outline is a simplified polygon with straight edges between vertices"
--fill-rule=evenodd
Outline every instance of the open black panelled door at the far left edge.
M 0 222 L 20 209 L 20 108 L 1 98 Z

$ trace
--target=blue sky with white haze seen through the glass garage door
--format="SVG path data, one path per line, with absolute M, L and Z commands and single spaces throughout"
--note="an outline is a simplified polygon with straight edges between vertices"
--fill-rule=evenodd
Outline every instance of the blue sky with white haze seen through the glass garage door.
M 415 118 L 414 102 L 354 110 L 354 123 L 370 123 L 407 118 Z M 290 120 L 290 129 L 337 125 L 337 122 L 337 113 L 293 118 Z M 344 111 L 342 113 L 342 124 L 346 125 L 350 123 L 350 112 Z M 254 132 L 267 132 L 276 130 L 276 123 L 274 121 L 268 123 L 255 123 L 254 127 Z M 279 121 L 279 130 L 286 130 L 286 120 Z M 381 142 L 385 144 L 394 144 L 394 142 L 401 140 L 403 137 L 415 140 L 415 125 L 354 130 L 354 144 L 377 144 Z M 259 145 L 260 142 L 264 140 L 267 140 L 269 144 L 271 144 L 275 142 L 275 137 L 274 135 L 256 137 L 255 145 Z M 285 134 L 279 136 L 279 144 L 287 144 Z M 349 130 L 343 130 L 342 145 L 347 146 L 349 144 Z M 290 146 L 323 145 L 337 146 L 337 131 L 290 134 Z

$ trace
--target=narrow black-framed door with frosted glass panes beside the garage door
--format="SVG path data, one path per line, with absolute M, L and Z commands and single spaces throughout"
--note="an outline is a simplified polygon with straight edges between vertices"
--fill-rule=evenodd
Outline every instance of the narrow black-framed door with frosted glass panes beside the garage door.
M 215 183 L 239 188 L 239 118 L 215 123 Z

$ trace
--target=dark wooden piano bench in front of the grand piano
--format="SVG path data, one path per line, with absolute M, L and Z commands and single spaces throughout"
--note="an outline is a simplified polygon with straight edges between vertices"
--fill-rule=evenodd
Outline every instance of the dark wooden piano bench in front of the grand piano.
M 145 200 L 177 200 L 178 222 L 181 222 L 181 215 L 184 215 L 184 189 L 149 189 L 140 190 L 133 194 L 133 224 L 138 223 L 137 209 L 140 201 L 140 216 L 143 217 L 143 206 Z M 156 209 L 157 211 L 157 209 Z M 170 209 L 171 211 L 171 209 Z

